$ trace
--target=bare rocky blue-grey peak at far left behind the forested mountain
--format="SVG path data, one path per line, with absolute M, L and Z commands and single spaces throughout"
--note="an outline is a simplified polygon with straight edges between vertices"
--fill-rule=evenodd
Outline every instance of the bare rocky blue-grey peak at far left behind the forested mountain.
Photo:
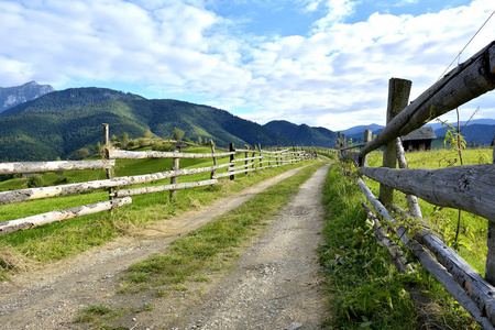
M 38 85 L 36 81 L 15 87 L 0 87 L 0 113 L 52 91 L 54 91 L 52 86 Z

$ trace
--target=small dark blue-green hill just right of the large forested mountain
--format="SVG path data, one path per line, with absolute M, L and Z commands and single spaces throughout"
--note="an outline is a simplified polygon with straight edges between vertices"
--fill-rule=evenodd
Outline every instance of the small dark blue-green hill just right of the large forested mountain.
M 265 128 L 286 135 L 292 143 L 306 146 L 333 147 L 336 145 L 337 133 L 324 128 L 311 128 L 307 124 L 294 124 L 285 120 L 274 120 Z

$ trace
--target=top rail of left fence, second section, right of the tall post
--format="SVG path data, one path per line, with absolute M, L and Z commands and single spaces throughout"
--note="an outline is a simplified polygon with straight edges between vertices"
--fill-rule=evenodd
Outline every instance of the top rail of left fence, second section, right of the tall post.
M 217 153 L 217 154 L 193 154 L 193 153 L 177 153 L 177 152 L 157 152 L 157 151 L 141 151 L 131 152 L 127 150 L 109 150 L 108 158 L 110 160 L 145 160 L 145 158 L 212 158 L 227 157 L 235 155 L 235 152 Z

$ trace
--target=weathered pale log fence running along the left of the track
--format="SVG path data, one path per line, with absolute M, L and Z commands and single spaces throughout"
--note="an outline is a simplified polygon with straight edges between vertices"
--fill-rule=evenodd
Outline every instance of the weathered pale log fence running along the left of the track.
M 16 204 L 29 200 L 53 198 L 72 194 L 88 193 L 99 189 L 108 189 L 109 200 L 99 201 L 92 205 L 78 206 L 69 209 L 41 213 L 16 220 L 0 222 L 0 235 L 6 235 L 15 231 L 31 229 L 42 224 L 62 221 L 70 218 L 81 217 L 103 210 L 111 210 L 132 202 L 131 196 L 153 194 L 160 191 L 170 191 L 174 197 L 178 189 L 188 189 L 202 186 L 211 186 L 218 183 L 221 177 L 229 176 L 234 179 L 235 175 L 249 172 L 283 166 L 302 162 L 314 157 L 306 151 L 289 151 L 287 148 L 276 151 L 244 150 L 235 148 L 231 144 L 229 152 L 216 153 L 215 144 L 211 142 L 211 153 L 180 153 L 180 152 L 156 152 L 156 151 L 123 151 L 109 147 L 108 124 L 103 124 L 105 132 L 105 156 L 100 161 L 62 161 L 62 162 L 24 162 L 24 163 L 0 163 L 0 175 L 10 174 L 41 174 L 61 170 L 82 170 L 82 169 L 105 169 L 107 179 L 76 183 L 68 185 L 28 188 L 0 193 L 0 205 Z M 250 155 L 251 154 L 251 155 Z M 241 155 L 242 157 L 239 157 Z M 219 164 L 220 158 L 229 157 L 228 163 Z M 143 160 L 143 158 L 172 158 L 174 167 L 172 170 L 151 173 L 145 175 L 112 177 L 116 160 Z M 182 158 L 211 158 L 213 166 L 199 168 L 180 168 Z M 219 173 L 220 169 L 227 172 Z M 195 175 L 200 173 L 211 173 L 210 179 L 178 183 L 178 177 Z M 151 184 L 156 180 L 170 179 L 170 184 L 162 186 L 146 186 L 134 189 L 127 189 L 129 186 Z M 125 189 L 123 189 L 125 187 Z

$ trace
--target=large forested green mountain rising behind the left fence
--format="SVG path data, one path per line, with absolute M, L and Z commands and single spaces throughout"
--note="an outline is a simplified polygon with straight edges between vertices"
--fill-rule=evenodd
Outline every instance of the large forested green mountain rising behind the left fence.
M 105 88 L 54 91 L 0 113 L 0 162 L 53 161 L 74 157 L 81 147 L 110 135 L 138 139 L 151 130 L 161 138 L 174 128 L 185 138 L 213 140 L 219 146 L 289 145 L 290 139 L 224 110 L 177 100 L 147 100 Z

